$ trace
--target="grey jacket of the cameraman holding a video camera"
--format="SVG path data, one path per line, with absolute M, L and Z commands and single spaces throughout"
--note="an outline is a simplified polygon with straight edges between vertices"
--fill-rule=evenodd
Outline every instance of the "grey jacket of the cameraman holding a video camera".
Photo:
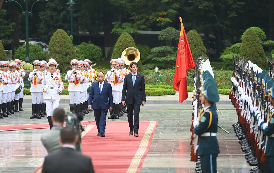
M 60 132 L 63 127 L 52 127 L 51 131 L 43 133 L 41 141 L 48 151 L 48 154 L 54 153 L 61 149 Z

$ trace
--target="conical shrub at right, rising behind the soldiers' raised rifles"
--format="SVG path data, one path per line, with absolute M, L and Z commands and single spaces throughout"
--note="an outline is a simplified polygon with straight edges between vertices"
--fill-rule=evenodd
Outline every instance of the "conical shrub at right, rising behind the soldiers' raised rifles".
M 261 68 L 266 68 L 267 58 L 263 46 L 259 43 L 259 37 L 253 30 L 246 30 L 242 37 L 240 56 L 257 64 Z

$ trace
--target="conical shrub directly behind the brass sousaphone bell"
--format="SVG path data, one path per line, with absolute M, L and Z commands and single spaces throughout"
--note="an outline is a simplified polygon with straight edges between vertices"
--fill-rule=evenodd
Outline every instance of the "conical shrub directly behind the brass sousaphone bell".
M 111 58 L 121 57 L 123 50 L 125 50 L 128 47 L 136 48 L 136 44 L 132 36 L 128 34 L 127 32 L 124 32 L 123 34 L 120 35 L 117 42 L 115 43 Z M 142 58 L 142 55 L 141 55 L 141 58 Z

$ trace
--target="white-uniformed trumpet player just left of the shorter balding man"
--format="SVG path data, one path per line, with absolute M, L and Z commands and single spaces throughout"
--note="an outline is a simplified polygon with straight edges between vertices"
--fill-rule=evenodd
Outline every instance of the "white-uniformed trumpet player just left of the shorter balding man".
M 80 71 L 77 70 L 77 59 L 72 59 L 70 65 L 72 70 L 69 70 L 65 77 L 68 81 L 69 108 L 70 112 L 78 113 L 80 111 L 80 92 L 82 90 L 80 82 L 83 81 L 83 77 L 80 76 Z

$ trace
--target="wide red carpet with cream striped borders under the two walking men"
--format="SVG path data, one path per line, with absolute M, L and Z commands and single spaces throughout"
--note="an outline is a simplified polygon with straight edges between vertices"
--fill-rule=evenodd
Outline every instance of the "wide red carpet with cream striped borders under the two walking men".
M 157 125 L 157 121 L 140 121 L 139 137 L 134 137 L 128 135 L 128 121 L 107 121 L 106 137 L 100 137 L 92 121 L 82 134 L 83 154 L 92 158 L 96 173 L 140 172 Z M 35 172 L 42 172 L 41 168 Z

